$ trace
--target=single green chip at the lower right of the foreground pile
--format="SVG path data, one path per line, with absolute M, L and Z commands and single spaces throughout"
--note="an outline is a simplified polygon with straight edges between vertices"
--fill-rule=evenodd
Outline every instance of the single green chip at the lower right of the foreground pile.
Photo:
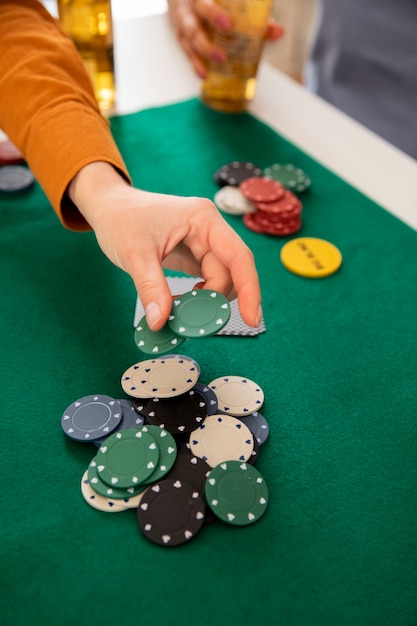
M 268 505 L 268 488 L 262 475 L 241 461 L 216 465 L 207 477 L 205 496 L 213 513 L 235 526 L 258 521 Z

